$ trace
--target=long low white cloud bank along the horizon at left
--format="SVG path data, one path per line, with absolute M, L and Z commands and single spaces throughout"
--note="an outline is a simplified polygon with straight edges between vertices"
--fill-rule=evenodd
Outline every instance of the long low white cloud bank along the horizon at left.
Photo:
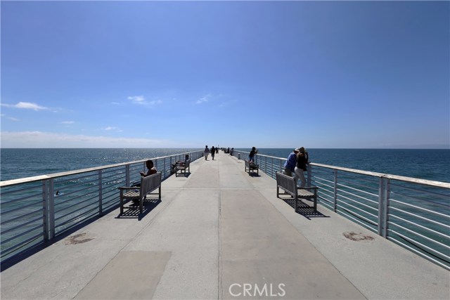
M 165 148 L 166 140 L 70 135 L 41 131 L 1 131 L 2 148 Z

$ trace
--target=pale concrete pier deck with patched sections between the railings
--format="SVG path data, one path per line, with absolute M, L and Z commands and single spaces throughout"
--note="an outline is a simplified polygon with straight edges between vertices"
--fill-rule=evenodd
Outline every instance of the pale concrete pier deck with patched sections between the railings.
M 318 211 L 219 152 L 1 272 L 1 299 L 450 299 L 447 270 Z

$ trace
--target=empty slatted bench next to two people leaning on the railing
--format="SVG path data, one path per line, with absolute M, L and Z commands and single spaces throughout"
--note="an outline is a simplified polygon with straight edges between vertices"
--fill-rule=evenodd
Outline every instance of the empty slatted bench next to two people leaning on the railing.
M 285 193 L 293 196 L 295 199 L 295 211 L 297 212 L 298 201 L 300 199 L 307 199 L 314 201 L 314 211 L 317 211 L 317 189 L 316 186 L 305 186 L 304 188 L 297 187 L 297 180 L 291 176 L 276 172 L 276 197 L 280 197 L 280 189 Z M 312 190 L 312 192 L 311 192 Z

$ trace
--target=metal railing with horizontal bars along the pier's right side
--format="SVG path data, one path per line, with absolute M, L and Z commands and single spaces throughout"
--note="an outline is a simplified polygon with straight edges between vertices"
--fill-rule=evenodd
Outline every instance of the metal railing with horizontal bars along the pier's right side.
M 248 159 L 249 152 L 233 156 Z M 285 158 L 255 155 L 272 178 Z M 450 183 L 310 163 L 318 202 L 401 247 L 450 270 Z

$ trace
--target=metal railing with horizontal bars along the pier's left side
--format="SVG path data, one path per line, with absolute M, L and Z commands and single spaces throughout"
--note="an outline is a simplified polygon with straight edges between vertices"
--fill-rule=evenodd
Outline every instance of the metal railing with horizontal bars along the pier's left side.
M 171 164 L 203 151 L 155 157 L 162 179 Z M 119 206 L 117 187 L 140 180 L 146 159 L 0 182 L 1 261 L 6 261 Z

